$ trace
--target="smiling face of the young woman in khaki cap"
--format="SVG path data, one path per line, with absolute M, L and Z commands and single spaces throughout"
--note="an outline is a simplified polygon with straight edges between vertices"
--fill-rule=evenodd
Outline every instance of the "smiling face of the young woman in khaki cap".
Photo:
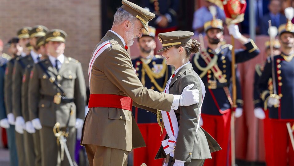
M 178 66 L 178 64 L 182 62 L 180 53 L 183 52 L 183 47 L 182 50 L 180 48 L 181 47 L 175 48 L 175 46 L 172 46 L 163 51 L 162 56 L 165 57 L 167 65 Z

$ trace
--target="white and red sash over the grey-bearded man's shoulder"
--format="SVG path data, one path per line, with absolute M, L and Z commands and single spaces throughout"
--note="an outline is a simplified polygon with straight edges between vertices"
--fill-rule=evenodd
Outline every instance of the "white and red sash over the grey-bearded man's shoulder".
M 108 40 L 108 41 L 105 41 L 103 42 L 102 44 L 100 44 L 94 51 L 93 53 L 93 56 L 90 60 L 90 63 L 89 63 L 89 69 L 88 69 L 88 75 L 89 75 L 89 86 L 90 86 L 90 83 L 91 83 L 91 73 L 92 73 L 92 67 L 93 67 L 93 64 L 96 60 L 96 58 L 105 50 L 107 49 L 108 47 L 111 47 L 111 42 Z M 133 67 L 134 69 L 134 67 Z M 134 69 L 135 73 L 137 73 L 136 69 Z

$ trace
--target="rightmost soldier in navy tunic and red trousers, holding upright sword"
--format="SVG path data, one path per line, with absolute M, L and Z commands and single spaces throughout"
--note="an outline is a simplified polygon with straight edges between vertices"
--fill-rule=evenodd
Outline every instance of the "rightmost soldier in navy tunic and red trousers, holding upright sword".
M 294 165 L 294 152 L 289 139 L 286 123 L 294 123 L 294 24 L 289 21 L 278 28 L 281 54 L 268 57 L 265 62 L 258 88 L 264 101 L 264 110 L 268 109 L 270 135 L 272 136 L 273 158 L 268 165 Z M 274 69 L 272 69 L 274 63 Z M 274 70 L 274 76 L 272 75 Z M 268 89 L 268 81 L 275 81 L 276 93 Z M 287 150 L 288 149 L 288 150 Z M 287 152 L 288 151 L 288 152 Z M 288 162 L 287 162 L 288 161 Z

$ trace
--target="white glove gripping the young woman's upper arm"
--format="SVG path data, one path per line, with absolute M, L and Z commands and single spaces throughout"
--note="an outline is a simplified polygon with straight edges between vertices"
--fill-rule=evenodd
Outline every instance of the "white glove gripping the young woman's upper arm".
M 189 106 L 199 103 L 199 90 L 192 89 L 194 84 L 186 86 L 183 90 L 183 93 L 179 95 L 179 105 L 180 106 Z

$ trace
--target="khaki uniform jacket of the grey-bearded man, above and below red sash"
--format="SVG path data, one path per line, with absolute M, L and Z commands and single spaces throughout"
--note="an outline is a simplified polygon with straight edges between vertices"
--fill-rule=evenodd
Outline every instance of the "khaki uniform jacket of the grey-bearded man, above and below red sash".
M 128 96 L 133 100 L 133 106 L 152 112 L 156 109 L 170 111 L 173 95 L 143 87 L 123 42 L 111 31 L 101 39 L 92 56 L 95 55 L 96 48 L 105 41 L 110 41 L 111 46 L 93 62 L 90 93 Z M 146 146 L 130 111 L 105 107 L 90 108 L 84 122 L 81 144 L 126 151 Z

